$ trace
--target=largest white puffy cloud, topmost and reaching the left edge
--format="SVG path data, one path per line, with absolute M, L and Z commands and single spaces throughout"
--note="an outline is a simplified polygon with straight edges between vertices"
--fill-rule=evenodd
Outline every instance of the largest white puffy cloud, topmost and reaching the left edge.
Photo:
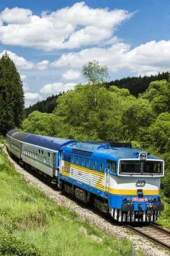
M 0 41 L 46 51 L 108 44 L 117 27 L 132 15 L 127 10 L 90 8 L 84 2 L 41 16 L 29 9 L 6 8 L 0 13 Z

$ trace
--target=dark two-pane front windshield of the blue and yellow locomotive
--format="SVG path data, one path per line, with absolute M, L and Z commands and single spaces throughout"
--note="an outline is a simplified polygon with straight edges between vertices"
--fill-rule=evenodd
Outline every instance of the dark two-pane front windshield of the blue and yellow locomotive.
M 159 161 L 120 161 L 120 173 L 128 175 L 161 175 L 162 162 Z

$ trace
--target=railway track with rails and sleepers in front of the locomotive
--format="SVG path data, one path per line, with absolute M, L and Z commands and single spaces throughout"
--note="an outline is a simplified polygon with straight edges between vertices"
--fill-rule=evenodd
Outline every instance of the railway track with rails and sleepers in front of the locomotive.
M 163 246 L 170 251 L 170 231 L 165 228 L 161 228 L 153 223 L 146 227 L 132 227 L 131 225 L 124 225 L 129 230 L 138 233 L 140 236 L 149 239 L 155 244 Z

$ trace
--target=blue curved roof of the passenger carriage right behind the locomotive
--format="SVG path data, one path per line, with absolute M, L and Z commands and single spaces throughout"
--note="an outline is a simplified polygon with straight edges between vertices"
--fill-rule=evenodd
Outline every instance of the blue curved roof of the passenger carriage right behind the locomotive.
M 50 136 L 39 136 L 36 134 L 29 134 L 24 138 L 24 142 L 38 145 L 39 147 L 50 148 L 52 150 L 59 150 L 60 147 L 72 142 L 78 142 L 76 140 L 68 140 L 63 138 L 55 138 Z

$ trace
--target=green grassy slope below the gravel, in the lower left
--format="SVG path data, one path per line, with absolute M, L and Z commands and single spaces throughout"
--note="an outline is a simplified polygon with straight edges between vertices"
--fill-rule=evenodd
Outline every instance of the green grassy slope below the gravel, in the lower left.
M 55 204 L 27 184 L 2 153 L 0 180 L 0 256 L 117 256 L 134 252 L 131 241 L 92 227 L 76 212 Z M 98 243 L 90 235 L 103 240 Z

